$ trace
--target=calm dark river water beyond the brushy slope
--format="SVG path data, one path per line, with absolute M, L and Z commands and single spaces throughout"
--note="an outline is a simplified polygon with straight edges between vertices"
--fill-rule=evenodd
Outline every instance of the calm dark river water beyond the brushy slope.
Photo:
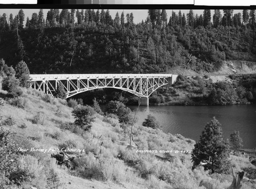
M 129 106 L 136 111 L 137 106 Z M 165 133 L 176 134 L 199 140 L 204 126 L 213 117 L 222 125 L 223 136 L 229 138 L 239 130 L 243 148 L 256 147 L 256 105 L 228 106 L 140 106 L 137 124 L 142 124 L 148 114 L 156 117 Z

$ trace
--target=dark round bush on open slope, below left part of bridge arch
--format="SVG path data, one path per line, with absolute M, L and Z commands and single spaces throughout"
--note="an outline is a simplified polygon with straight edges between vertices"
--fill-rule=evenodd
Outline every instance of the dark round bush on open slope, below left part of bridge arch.
M 72 111 L 72 115 L 75 117 L 74 124 L 82 128 L 83 130 L 89 130 L 92 126 L 90 125 L 91 122 L 94 121 L 94 118 L 91 117 L 93 113 L 94 110 L 91 106 L 76 106 L 75 109 Z

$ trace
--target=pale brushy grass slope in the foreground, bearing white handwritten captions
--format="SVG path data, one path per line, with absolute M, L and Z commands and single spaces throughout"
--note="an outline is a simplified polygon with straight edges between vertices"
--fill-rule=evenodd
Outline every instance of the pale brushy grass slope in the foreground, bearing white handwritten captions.
M 115 118 L 95 114 L 91 130 L 84 132 L 72 125 L 73 109 L 65 100 L 32 89 L 23 90 L 22 98 L 26 99 L 24 108 L 10 105 L 12 99 L 5 99 L 0 109 L 0 122 L 5 129 L 30 141 L 30 146 L 23 144 L 24 149 L 32 145 L 47 151 L 20 156 L 19 169 L 28 169 L 34 179 L 15 185 L 16 188 L 219 189 L 227 188 L 232 181 L 229 174 L 209 175 L 203 168 L 192 171 L 190 153 L 175 151 L 191 151 L 195 141 L 180 134 L 166 134 L 160 129 L 135 124 L 132 145 L 137 145 L 137 148 L 127 149 L 122 144 L 129 144 L 127 133 L 130 128 L 122 128 Z M 74 160 L 72 169 L 58 166 L 50 158 L 51 153 L 56 153 L 49 151 L 50 148 L 62 147 L 84 150 L 74 152 L 81 157 Z M 236 170 L 255 168 L 245 157 L 231 156 L 231 159 L 231 165 Z M 48 172 L 43 171 L 46 167 Z M 254 186 L 249 181 L 244 183 L 244 188 Z

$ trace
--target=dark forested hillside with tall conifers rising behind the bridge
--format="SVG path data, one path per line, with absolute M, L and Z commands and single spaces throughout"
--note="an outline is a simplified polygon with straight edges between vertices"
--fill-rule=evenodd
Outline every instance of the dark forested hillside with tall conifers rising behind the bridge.
M 45 20 L 42 9 L 31 19 L 21 9 L 0 18 L 0 58 L 13 66 L 22 59 L 31 73 L 210 72 L 224 60 L 256 60 L 254 12 L 157 9 L 135 24 L 132 12 L 51 9 Z

